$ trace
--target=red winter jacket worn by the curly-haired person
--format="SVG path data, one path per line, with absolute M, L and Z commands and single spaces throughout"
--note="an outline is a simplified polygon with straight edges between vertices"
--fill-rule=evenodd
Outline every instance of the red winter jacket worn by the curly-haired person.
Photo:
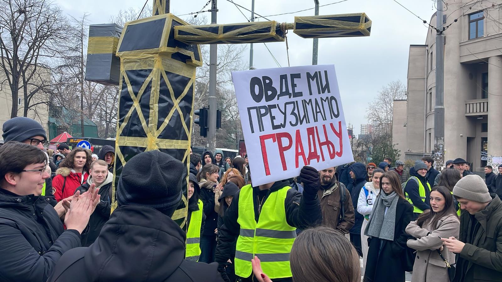
M 89 173 L 86 172 L 84 174 L 84 178 L 82 180 L 81 173 L 71 172 L 70 168 L 59 168 L 56 171 L 56 176 L 52 180 L 52 192 L 56 201 L 61 201 L 62 199 L 68 198 L 72 196 L 75 192 L 75 189 L 80 187 L 80 185 L 84 184 L 89 177 Z M 65 182 L 66 178 L 66 182 Z M 64 185 L 64 191 L 63 191 Z

